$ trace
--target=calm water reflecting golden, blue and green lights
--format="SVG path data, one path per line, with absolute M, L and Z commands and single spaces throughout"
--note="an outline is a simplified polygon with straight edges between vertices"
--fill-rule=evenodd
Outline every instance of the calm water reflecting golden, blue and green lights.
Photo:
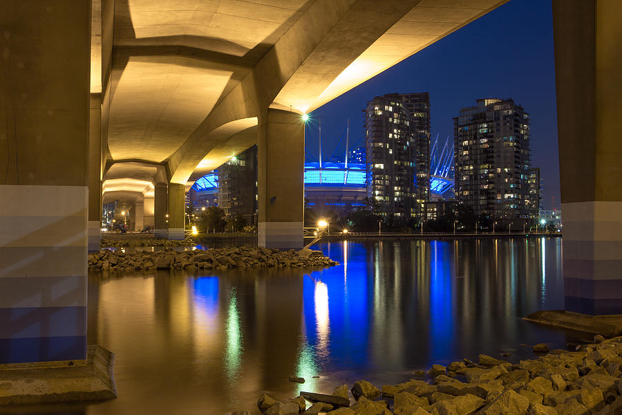
M 576 334 L 520 319 L 563 308 L 560 238 L 317 246 L 323 270 L 89 277 L 89 344 L 116 353 L 120 398 L 87 414 L 223 414 L 262 391 L 381 385 L 478 353 L 531 356 Z M 303 376 L 304 385 L 288 382 Z M 312 378 L 320 376 L 320 378 Z

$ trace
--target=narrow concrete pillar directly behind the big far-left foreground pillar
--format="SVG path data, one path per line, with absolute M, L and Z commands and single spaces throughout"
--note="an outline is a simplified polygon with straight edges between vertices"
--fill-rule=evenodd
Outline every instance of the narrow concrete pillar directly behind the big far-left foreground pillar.
M 88 133 L 88 252 L 100 250 L 102 229 L 102 94 L 91 93 Z

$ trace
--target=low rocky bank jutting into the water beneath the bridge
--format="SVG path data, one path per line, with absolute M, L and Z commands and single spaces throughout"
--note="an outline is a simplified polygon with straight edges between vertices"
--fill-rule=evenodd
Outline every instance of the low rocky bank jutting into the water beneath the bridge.
M 211 248 L 207 250 L 158 252 L 113 252 L 100 250 L 88 255 L 90 271 L 135 270 L 198 270 L 229 268 L 334 266 L 338 262 L 325 257 L 321 251 L 308 248 L 280 251 L 270 248 Z

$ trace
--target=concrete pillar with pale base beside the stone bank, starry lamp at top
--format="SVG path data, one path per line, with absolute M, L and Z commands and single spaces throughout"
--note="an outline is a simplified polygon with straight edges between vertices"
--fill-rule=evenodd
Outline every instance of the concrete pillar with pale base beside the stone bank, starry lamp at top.
M 258 244 L 302 248 L 304 122 L 298 113 L 268 109 L 258 129 Z

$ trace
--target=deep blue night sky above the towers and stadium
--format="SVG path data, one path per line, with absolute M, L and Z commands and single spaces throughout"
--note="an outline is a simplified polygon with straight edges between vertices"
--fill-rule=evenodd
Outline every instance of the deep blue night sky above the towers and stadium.
M 432 136 L 453 137 L 461 107 L 478 98 L 513 98 L 531 114 L 531 163 L 542 169 L 545 209 L 559 208 L 553 26 L 550 0 L 511 0 L 480 19 L 341 95 L 311 114 L 306 146 L 317 158 L 337 147 L 350 118 L 350 148 L 364 137 L 366 102 L 377 95 L 428 91 Z

